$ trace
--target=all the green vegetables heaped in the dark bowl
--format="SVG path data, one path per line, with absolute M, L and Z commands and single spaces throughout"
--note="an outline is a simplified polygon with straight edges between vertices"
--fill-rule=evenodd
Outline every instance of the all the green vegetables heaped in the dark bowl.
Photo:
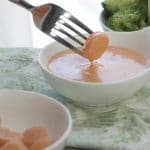
M 106 25 L 116 31 L 135 31 L 148 25 L 148 0 L 105 0 Z

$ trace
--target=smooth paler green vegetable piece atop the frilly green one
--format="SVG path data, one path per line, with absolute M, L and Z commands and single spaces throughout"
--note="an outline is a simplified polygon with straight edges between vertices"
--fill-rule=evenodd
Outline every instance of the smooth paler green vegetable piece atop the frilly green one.
M 105 11 L 114 13 L 131 5 L 143 5 L 145 3 L 147 4 L 147 2 L 148 0 L 105 0 L 102 2 L 102 6 Z

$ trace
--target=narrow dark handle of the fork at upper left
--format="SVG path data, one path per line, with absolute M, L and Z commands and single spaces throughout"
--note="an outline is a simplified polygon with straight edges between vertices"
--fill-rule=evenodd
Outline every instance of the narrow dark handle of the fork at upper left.
M 13 2 L 17 5 L 20 5 L 20 6 L 22 6 L 23 8 L 25 8 L 29 11 L 31 11 L 34 8 L 34 6 L 32 6 L 31 4 L 26 2 L 25 0 L 9 0 L 9 1 L 11 1 L 11 2 Z

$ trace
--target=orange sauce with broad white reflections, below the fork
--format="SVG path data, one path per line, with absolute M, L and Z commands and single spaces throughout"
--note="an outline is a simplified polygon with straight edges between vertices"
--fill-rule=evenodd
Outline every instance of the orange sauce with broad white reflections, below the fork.
M 48 68 L 67 79 L 110 82 L 133 77 L 149 65 L 149 59 L 137 51 L 108 46 L 103 55 L 92 62 L 70 50 L 59 52 L 50 58 Z

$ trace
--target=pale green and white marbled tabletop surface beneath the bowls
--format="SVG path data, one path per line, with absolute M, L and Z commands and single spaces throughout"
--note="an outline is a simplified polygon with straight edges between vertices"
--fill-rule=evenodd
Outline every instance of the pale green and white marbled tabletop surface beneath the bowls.
M 150 84 L 124 103 L 105 107 L 75 105 L 48 85 L 38 64 L 39 51 L 0 49 L 0 88 L 36 91 L 64 103 L 74 124 L 68 146 L 85 150 L 150 149 Z

